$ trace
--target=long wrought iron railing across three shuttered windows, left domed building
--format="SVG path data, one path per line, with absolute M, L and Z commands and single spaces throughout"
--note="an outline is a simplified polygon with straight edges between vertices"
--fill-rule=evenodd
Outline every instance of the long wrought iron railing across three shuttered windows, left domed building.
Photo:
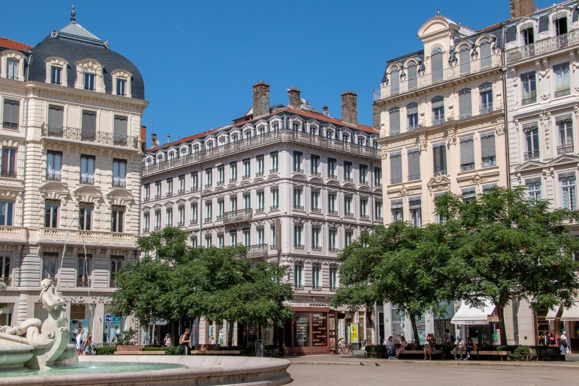
M 54 126 L 48 125 L 47 123 L 42 124 L 42 136 L 94 142 L 113 146 L 132 147 L 135 149 L 139 148 L 138 137 L 135 136 L 119 136 L 113 133 L 67 128 L 66 126 Z

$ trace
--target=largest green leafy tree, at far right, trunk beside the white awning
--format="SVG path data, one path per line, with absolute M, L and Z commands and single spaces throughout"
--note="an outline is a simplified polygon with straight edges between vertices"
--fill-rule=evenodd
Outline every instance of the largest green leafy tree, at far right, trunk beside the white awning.
M 453 248 L 449 291 L 472 307 L 492 300 L 501 344 L 507 343 L 504 307 L 515 297 L 534 309 L 571 306 L 579 242 L 567 224 L 578 220 L 576 212 L 549 210 L 547 200 L 527 198 L 524 187 L 496 187 L 471 202 L 445 194 L 436 205 Z

